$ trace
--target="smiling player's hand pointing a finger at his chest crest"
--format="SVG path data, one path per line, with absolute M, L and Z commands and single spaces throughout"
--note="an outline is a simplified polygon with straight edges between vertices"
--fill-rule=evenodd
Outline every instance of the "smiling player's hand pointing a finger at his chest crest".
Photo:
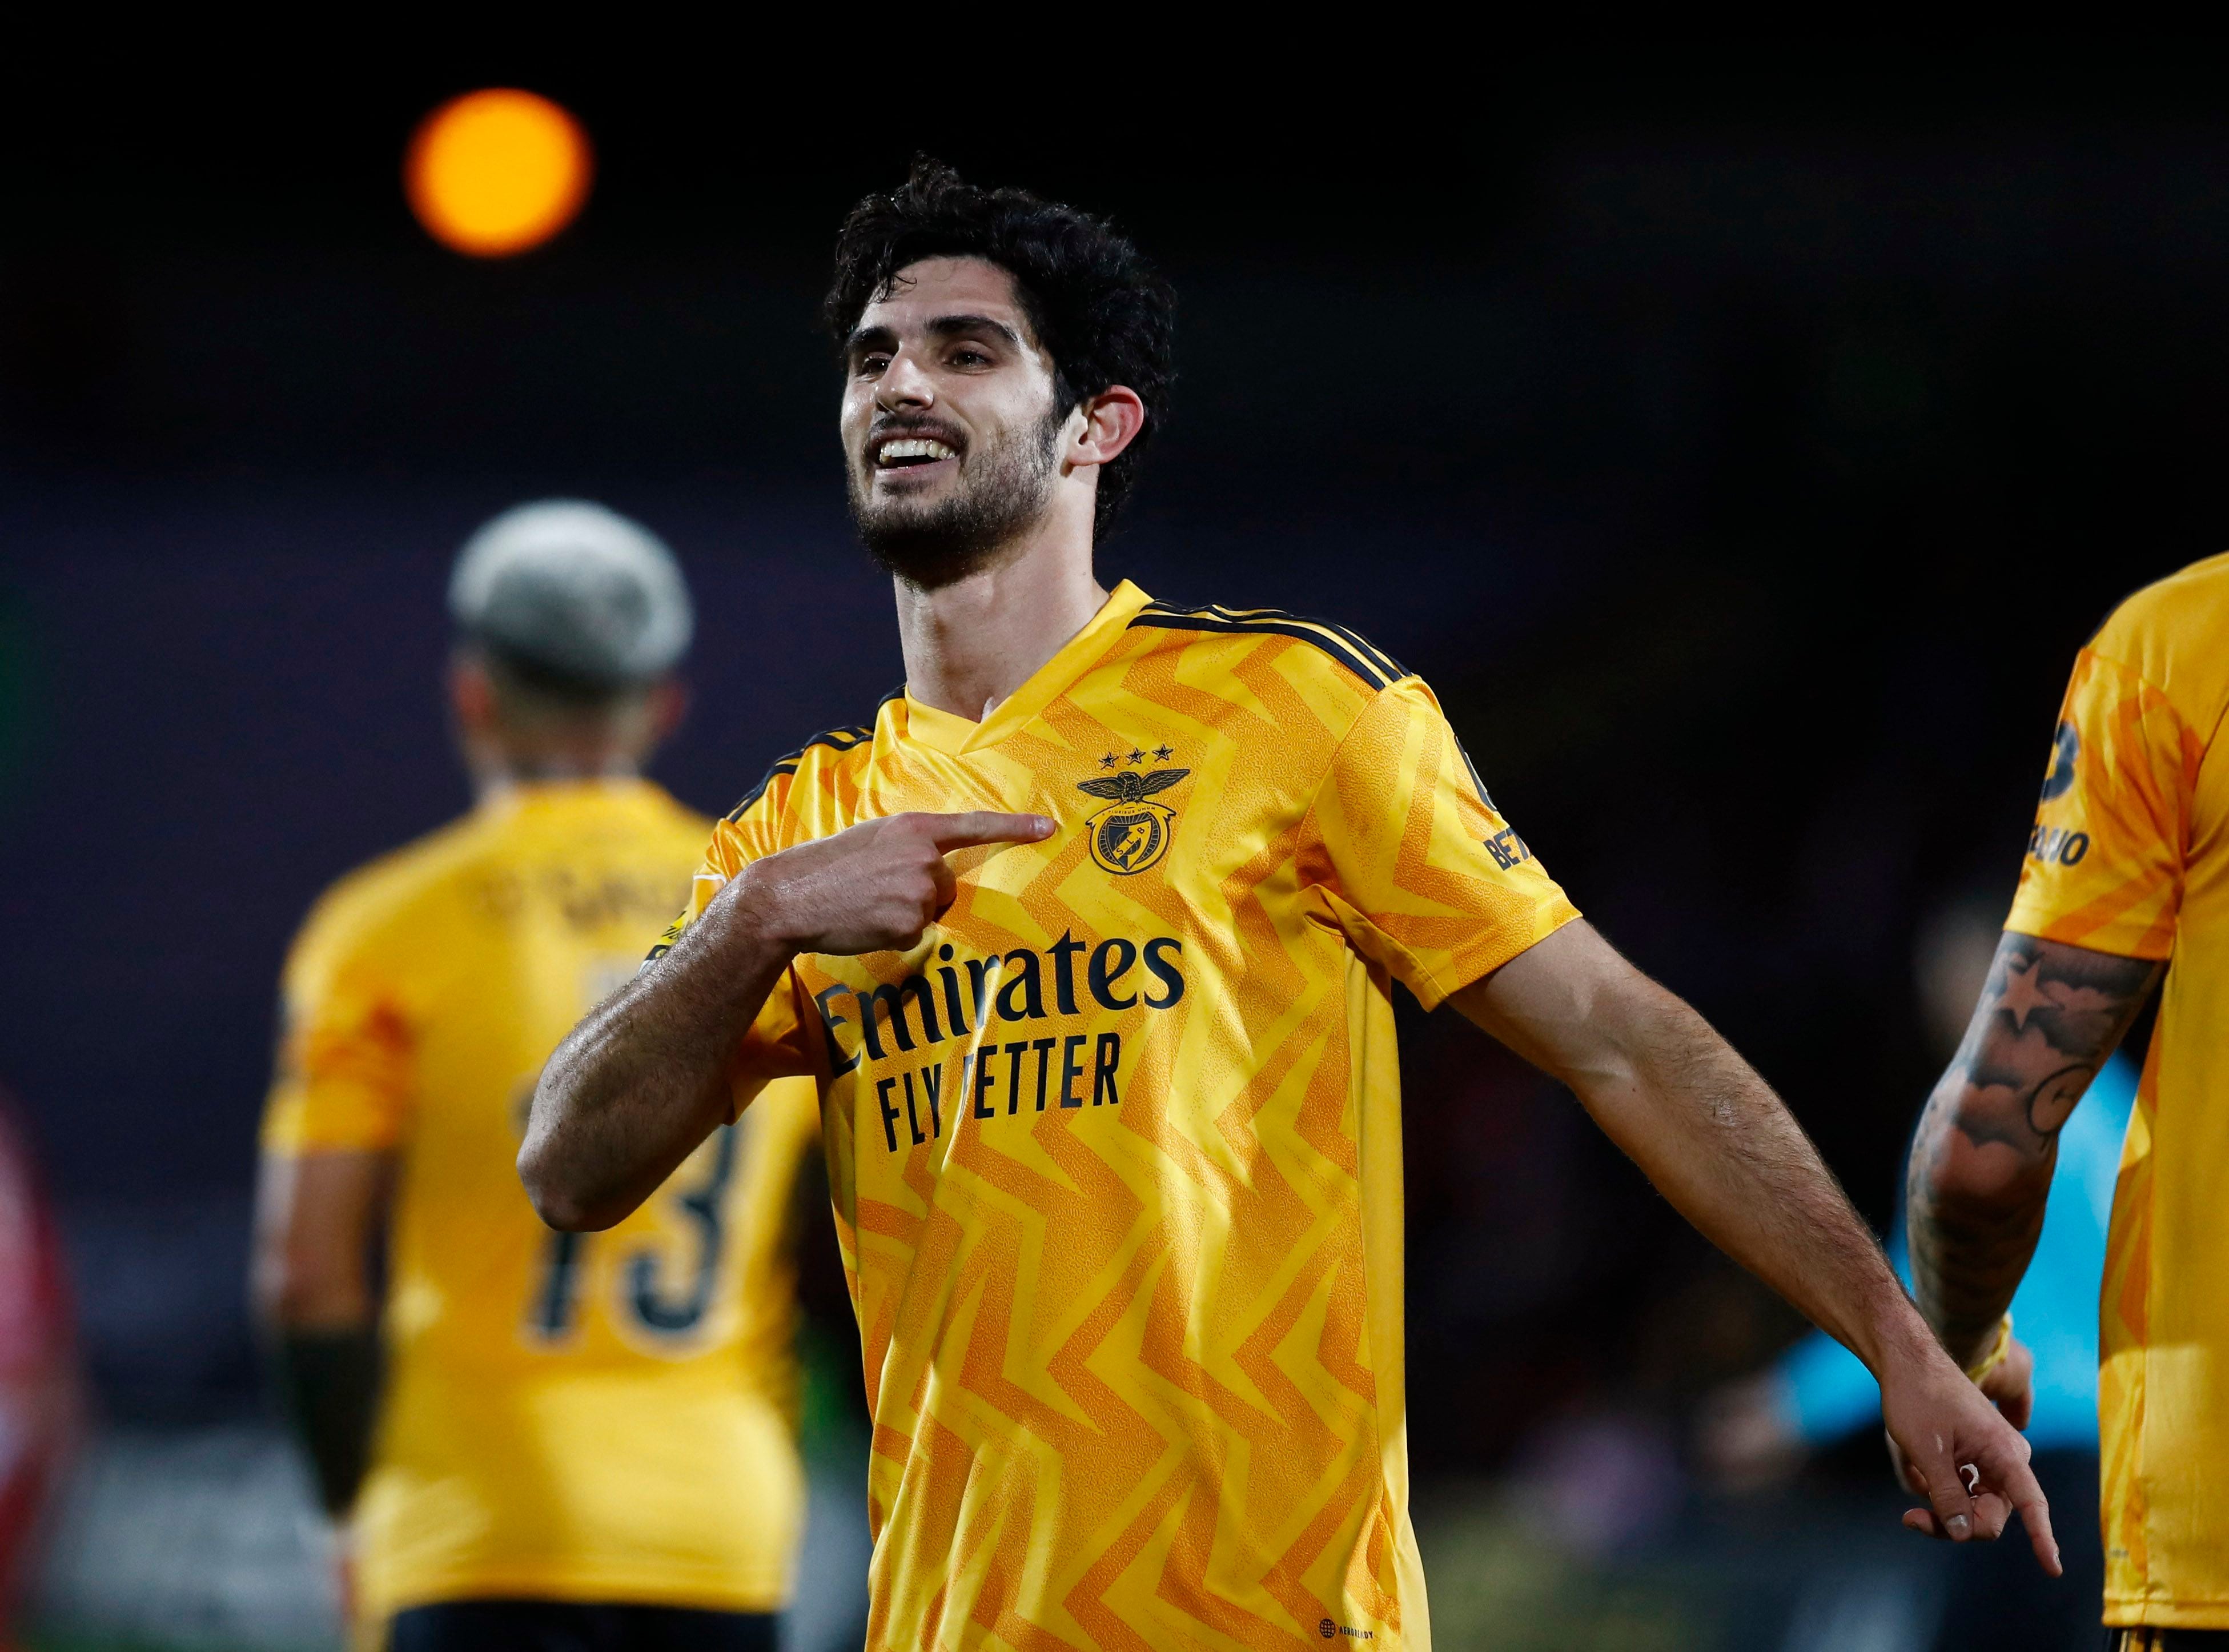
M 952 905 L 947 854 L 1050 836 L 1041 814 L 892 814 L 753 861 L 720 901 L 789 952 L 905 952 Z

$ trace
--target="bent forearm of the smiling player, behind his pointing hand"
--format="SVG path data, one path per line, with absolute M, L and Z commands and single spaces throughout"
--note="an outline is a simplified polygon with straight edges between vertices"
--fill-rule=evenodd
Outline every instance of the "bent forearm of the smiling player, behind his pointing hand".
M 622 1219 L 727 1117 L 729 1066 L 791 959 L 744 894 L 722 892 L 542 1068 L 519 1177 L 551 1226 Z

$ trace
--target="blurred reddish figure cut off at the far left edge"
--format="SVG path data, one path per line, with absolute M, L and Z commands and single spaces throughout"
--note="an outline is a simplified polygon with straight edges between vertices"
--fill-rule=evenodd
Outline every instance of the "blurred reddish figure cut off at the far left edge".
M 0 1648 L 13 1645 L 40 1514 L 76 1422 L 62 1242 L 31 1144 L 0 1092 Z

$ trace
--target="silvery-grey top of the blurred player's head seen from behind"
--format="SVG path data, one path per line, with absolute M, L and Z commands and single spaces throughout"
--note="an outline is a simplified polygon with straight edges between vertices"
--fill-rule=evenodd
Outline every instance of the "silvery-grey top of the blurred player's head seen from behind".
M 497 653 L 591 689 L 671 671 L 695 624 L 658 535 L 586 499 L 522 504 L 475 533 L 448 613 Z

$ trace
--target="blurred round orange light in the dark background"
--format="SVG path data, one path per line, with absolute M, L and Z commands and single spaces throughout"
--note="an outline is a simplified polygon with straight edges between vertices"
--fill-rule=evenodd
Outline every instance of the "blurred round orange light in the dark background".
M 580 123 L 533 91 L 444 103 L 410 138 L 403 192 L 426 232 L 475 259 L 506 259 L 564 230 L 595 172 Z

